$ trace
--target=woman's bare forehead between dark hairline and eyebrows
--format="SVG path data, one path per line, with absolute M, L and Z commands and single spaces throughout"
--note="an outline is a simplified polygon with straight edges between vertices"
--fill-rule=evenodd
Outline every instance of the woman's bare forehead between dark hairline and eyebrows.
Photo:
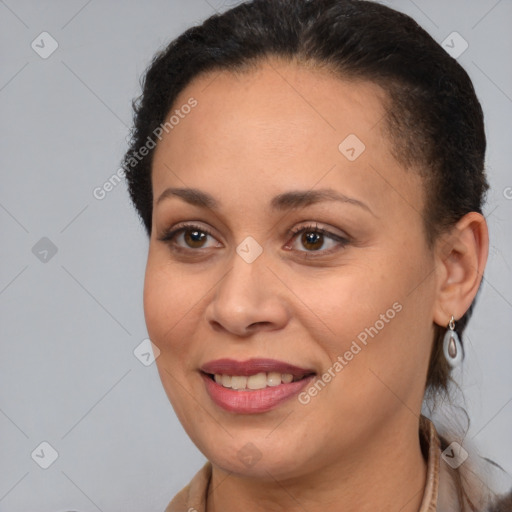
M 412 173 L 391 155 L 386 96 L 374 83 L 270 60 L 243 73 L 201 75 L 169 114 L 191 98 L 197 105 L 155 150 L 155 197 L 173 183 L 217 193 L 249 188 L 256 195 L 313 188 L 321 180 L 385 203 L 382 192 L 390 183 L 411 181 Z M 360 152 L 355 160 L 347 158 L 351 147 Z

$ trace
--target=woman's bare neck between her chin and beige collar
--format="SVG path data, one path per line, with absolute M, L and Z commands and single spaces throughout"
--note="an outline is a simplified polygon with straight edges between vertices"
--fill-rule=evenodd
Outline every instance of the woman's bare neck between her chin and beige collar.
M 414 428 L 414 426 L 416 427 Z M 255 479 L 213 465 L 207 512 L 418 512 L 427 464 L 421 452 L 418 421 L 379 432 L 364 453 L 318 470 L 279 480 Z M 327 508 L 328 507 L 328 508 Z

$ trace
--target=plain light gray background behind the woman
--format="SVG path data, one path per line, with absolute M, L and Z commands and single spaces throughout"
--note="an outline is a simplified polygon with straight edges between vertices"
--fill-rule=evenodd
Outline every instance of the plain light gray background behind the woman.
M 133 353 L 147 337 L 147 239 L 125 183 L 93 191 L 119 168 L 154 52 L 228 3 L 0 1 L 0 511 L 162 511 L 203 464 L 155 365 Z M 453 31 L 469 43 L 459 61 L 486 115 L 492 246 L 458 379 L 468 438 L 512 473 L 512 3 L 382 3 L 440 43 Z M 59 45 L 46 59 L 31 47 L 43 31 Z M 47 241 L 34 254 L 43 237 L 55 255 Z M 48 469 L 35 462 L 48 450 L 31 457 L 43 441 L 58 452 Z

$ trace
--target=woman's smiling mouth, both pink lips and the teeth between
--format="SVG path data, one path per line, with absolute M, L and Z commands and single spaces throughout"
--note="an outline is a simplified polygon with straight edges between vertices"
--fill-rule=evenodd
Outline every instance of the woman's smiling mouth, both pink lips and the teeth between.
M 298 394 L 316 372 L 272 359 L 219 359 L 200 369 L 211 400 L 239 414 L 266 412 Z

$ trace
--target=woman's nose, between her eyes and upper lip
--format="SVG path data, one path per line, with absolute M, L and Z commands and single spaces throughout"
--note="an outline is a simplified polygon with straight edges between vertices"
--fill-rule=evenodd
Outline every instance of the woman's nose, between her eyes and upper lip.
M 214 330 L 247 337 L 286 325 L 287 289 L 267 263 L 264 252 L 252 263 L 234 253 L 231 268 L 217 284 L 205 310 Z

